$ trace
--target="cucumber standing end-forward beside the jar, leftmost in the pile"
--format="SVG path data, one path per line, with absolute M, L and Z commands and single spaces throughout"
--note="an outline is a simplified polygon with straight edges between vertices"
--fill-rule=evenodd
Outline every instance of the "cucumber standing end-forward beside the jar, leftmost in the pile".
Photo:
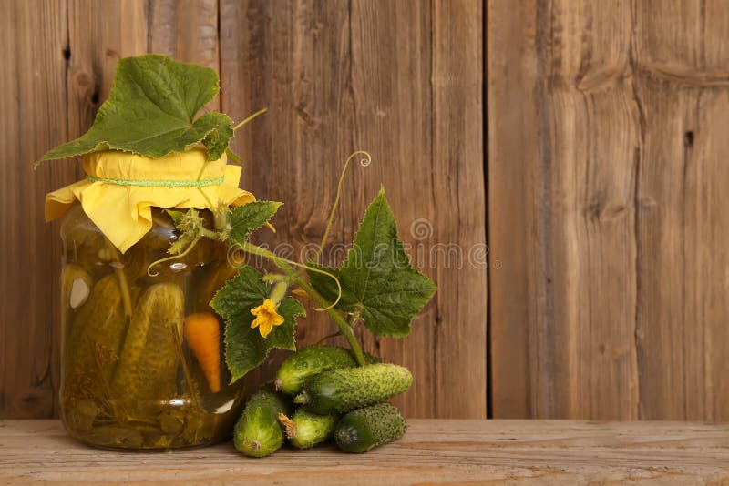
M 253 393 L 235 424 L 235 448 L 246 456 L 265 457 L 283 445 L 279 413 L 290 413 L 292 407 L 281 393 L 269 387 Z

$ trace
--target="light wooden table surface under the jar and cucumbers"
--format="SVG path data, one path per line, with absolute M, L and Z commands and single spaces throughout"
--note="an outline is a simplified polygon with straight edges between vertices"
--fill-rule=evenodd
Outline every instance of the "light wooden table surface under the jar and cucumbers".
M 245 484 L 729 483 L 729 424 L 568 420 L 411 420 L 367 454 L 334 446 L 264 459 L 232 444 L 112 452 L 67 437 L 57 420 L 0 420 L 0 484 L 48 481 Z

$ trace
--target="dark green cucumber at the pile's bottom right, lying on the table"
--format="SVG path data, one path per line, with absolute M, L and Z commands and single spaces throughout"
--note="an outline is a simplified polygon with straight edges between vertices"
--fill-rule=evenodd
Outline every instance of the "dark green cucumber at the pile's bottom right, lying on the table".
M 406 428 L 400 410 L 390 403 L 378 403 L 344 415 L 336 424 L 334 440 L 344 452 L 366 452 L 400 439 Z

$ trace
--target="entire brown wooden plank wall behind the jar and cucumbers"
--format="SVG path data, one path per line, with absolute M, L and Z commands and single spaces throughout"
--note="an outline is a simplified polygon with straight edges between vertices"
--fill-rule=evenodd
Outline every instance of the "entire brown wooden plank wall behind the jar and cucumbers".
M 159 52 L 219 70 L 211 109 L 270 108 L 234 141 L 242 185 L 287 203 L 263 244 L 300 257 L 371 152 L 333 241 L 382 182 L 439 284 L 412 337 L 364 337 L 414 371 L 409 416 L 729 419 L 724 0 L 7 4 L 0 416 L 57 414 L 42 199 L 80 174 L 30 161 L 87 129 L 119 57 Z M 330 330 L 313 313 L 302 341 Z

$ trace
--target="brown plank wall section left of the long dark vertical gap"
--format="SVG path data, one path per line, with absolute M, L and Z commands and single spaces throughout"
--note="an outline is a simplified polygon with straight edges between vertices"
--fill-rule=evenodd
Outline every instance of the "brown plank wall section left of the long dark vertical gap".
M 423 251 L 485 244 L 480 2 L 7 3 L 0 18 L 10 56 L 0 75 L 0 417 L 58 411 L 59 240 L 57 224 L 43 223 L 42 201 L 80 173 L 60 162 L 34 174 L 31 162 L 86 131 L 118 59 L 146 52 L 219 70 L 221 96 L 211 109 L 241 119 L 270 108 L 234 144 L 245 159 L 242 186 L 286 202 L 278 235 L 262 243 L 290 242 L 298 256 L 305 243 L 318 242 L 344 158 L 370 151 L 372 165 L 352 167 L 347 177 L 333 241 L 351 241 L 384 183 L 401 236 L 425 253 L 416 264 L 441 290 L 413 336 L 365 338 L 366 348 L 413 370 L 413 390 L 398 399 L 408 416 L 486 417 L 486 272 L 433 262 Z M 312 314 L 304 344 L 331 331 Z M 270 376 L 269 369 L 255 378 Z

